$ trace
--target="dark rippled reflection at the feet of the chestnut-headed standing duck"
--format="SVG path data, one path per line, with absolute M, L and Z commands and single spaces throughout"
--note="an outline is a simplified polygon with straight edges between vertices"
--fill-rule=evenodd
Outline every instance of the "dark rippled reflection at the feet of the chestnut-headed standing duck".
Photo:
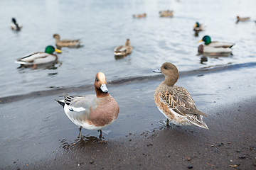
M 67 150 L 67 151 L 79 150 L 80 152 L 82 152 L 82 150 L 85 147 L 90 147 L 94 145 L 107 145 L 107 141 L 102 140 L 102 138 L 99 139 L 93 136 L 82 136 L 82 140 L 80 140 L 80 137 L 78 137 L 73 142 L 63 139 L 63 140 L 60 140 L 60 143 L 61 143 L 60 147 L 64 150 Z

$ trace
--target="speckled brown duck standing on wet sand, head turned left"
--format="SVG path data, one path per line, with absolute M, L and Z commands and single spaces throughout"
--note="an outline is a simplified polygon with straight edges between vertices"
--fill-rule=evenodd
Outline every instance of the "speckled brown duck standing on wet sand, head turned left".
M 170 121 L 175 125 L 196 125 L 208 129 L 203 122 L 203 116 L 207 115 L 198 111 L 186 89 L 175 85 L 179 75 L 177 67 L 170 62 L 164 62 L 160 69 L 153 72 L 164 74 L 165 77 L 154 92 L 154 101 L 167 119 L 166 126 L 169 127 Z

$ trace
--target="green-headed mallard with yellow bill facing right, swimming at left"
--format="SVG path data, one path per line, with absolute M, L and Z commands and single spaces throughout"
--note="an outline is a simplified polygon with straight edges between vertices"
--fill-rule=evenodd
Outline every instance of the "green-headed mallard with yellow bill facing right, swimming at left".
M 58 60 L 58 56 L 54 55 L 53 52 L 61 52 L 52 45 L 46 47 L 45 52 L 34 52 L 26 55 L 15 61 L 17 64 L 22 65 L 33 65 L 33 69 L 36 68 L 36 64 L 46 64 L 48 62 L 54 62 Z

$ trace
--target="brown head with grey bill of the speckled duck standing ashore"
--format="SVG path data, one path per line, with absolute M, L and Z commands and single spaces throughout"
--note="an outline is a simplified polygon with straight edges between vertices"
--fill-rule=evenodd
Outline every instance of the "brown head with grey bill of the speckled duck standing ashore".
M 178 69 L 174 64 L 171 64 L 171 62 L 164 62 L 160 69 L 156 69 L 153 72 L 164 74 L 164 83 L 168 86 L 174 86 L 178 81 Z

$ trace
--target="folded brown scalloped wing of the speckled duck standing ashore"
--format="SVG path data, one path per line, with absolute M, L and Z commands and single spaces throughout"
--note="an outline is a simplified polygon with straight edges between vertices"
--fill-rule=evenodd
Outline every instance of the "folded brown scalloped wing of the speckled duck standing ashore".
M 182 87 L 177 86 L 171 90 L 161 91 L 160 98 L 161 102 L 168 106 L 169 110 L 179 115 L 203 115 L 207 117 L 205 113 L 198 111 L 193 98 L 188 91 Z

